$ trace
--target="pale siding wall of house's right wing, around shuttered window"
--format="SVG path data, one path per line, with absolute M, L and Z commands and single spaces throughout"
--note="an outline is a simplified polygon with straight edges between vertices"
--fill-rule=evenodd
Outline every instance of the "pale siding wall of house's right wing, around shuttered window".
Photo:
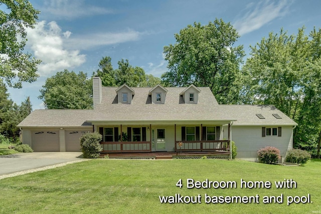
M 224 138 L 226 139 L 227 130 L 227 126 L 224 126 Z M 260 148 L 273 146 L 280 150 L 280 155 L 284 161 L 286 152 L 292 149 L 292 127 L 282 126 L 280 137 L 262 137 L 262 126 L 232 126 L 232 140 L 237 147 L 236 158 L 257 161 L 257 151 Z

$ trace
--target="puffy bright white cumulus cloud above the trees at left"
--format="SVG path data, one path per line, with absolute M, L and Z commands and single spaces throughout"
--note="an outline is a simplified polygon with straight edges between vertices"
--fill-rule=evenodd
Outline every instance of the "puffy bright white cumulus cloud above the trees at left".
M 42 60 L 38 66 L 41 76 L 80 66 L 86 60 L 79 50 L 65 48 L 65 35 L 70 36 L 71 33 L 62 33 L 56 22 L 46 24 L 42 21 L 35 29 L 27 29 L 27 34 L 27 45 L 34 52 L 33 56 Z

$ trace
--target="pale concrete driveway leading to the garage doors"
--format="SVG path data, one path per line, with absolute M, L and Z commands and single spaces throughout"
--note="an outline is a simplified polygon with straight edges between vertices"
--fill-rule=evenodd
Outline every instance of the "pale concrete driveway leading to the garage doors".
M 83 160 L 88 159 L 82 158 L 82 152 L 31 152 L 4 155 L 0 156 L 0 178 L 4 177 L 1 175 L 13 174 L 15 176 L 17 172 Z

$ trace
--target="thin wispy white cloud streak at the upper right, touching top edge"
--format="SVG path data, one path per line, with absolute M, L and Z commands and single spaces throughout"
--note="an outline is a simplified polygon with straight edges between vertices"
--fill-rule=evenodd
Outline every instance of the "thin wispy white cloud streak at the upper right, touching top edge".
M 283 1 L 261 1 L 257 4 L 249 4 L 245 16 L 233 23 L 240 35 L 255 31 L 272 20 L 285 16 L 288 11 L 289 2 Z

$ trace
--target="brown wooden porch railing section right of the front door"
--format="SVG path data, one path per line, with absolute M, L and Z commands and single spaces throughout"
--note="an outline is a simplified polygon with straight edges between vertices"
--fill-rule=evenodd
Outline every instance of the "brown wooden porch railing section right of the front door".
M 181 143 L 182 142 L 182 143 Z M 179 145 L 182 145 L 181 147 Z M 211 140 L 211 141 L 176 141 L 175 151 L 216 151 L 230 150 L 229 140 Z

